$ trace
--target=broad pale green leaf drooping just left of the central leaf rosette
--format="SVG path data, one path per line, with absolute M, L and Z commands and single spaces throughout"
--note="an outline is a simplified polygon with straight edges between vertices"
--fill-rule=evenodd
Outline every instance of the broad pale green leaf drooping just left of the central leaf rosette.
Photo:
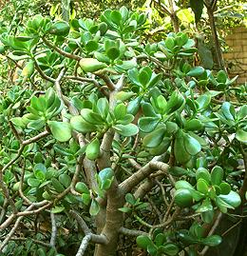
M 66 142 L 71 138 L 71 126 L 65 122 L 48 121 L 52 135 L 59 142 Z

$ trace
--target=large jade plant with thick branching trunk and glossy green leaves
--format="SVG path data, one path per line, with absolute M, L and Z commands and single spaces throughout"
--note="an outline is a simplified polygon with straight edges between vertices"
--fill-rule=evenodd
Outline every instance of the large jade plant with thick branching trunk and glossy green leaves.
M 145 39 L 146 15 L 125 7 L 14 28 L 0 35 L 1 255 L 227 244 L 246 214 L 246 87 L 195 66 L 186 32 Z

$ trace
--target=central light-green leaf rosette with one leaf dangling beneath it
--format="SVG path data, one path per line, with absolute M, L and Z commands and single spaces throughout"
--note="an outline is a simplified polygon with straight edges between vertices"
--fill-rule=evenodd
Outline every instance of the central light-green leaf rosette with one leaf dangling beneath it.
M 139 131 L 138 127 L 131 123 L 134 116 L 127 113 L 127 108 L 123 103 L 116 105 L 113 111 L 109 109 L 109 103 L 105 98 L 80 103 L 81 115 L 71 117 L 70 124 L 72 128 L 84 134 L 88 132 L 98 133 L 98 136 L 85 149 L 85 155 L 89 156 L 91 160 L 96 159 L 100 153 L 98 137 L 101 137 L 101 134 L 109 128 L 113 128 L 126 137 L 133 136 Z

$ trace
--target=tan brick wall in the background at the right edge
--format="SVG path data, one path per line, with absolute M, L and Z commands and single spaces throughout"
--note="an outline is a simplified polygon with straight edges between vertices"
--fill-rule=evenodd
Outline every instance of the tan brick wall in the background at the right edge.
M 237 84 L 247 82 L 247 27 L 232 30 L 226 38 L 229 51 L 224 53 L 226 66 L 231 77 L 238 75 Z

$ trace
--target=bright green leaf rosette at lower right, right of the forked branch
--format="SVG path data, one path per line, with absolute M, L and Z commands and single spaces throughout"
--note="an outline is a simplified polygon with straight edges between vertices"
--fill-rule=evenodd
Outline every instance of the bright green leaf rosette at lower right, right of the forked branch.
M 224 171 L 221 167 L 214 167 L 211 173 L 204 167 L 199 167 L 196 172 L 196 188 L 187 181 L 178 181 L 175 184 L 175 203 L 180 207 L 191 207 L 201 213 L 205 222 L 212 221 L 214 207 L 223 213 L 228 208 L 234 209 L 241 203 L 237 192 L 223 181 Z M 197 203 L 199 202 L 199 203 Z

